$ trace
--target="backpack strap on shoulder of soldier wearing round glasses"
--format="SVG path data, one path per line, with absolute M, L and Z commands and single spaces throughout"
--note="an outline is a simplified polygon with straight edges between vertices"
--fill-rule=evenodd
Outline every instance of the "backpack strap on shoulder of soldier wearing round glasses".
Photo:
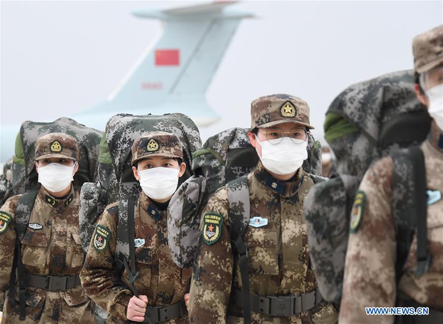
M 249 186 L 247 176 L 232 180 L 226 184 L 229 201 L 228 223 L 231 244 L 238 255 L 238 266 L 242 279 L 243 321 L 251 323 L 250 283 L 248 270 L 248 251 L 243 240 L 249 224 L 251 201 L 249 200 Z

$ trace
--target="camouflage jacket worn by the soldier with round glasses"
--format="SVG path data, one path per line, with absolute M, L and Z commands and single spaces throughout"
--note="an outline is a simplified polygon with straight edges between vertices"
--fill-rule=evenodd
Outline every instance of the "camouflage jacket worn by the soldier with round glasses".
M 255 170 L 248 174 L 248 184 L 250 217 L 268 219 L 267 226 L 248 226 L 245 233 L 251 293 L 262 296 L 297 295 L 315 290 L 316 278 L 309 262 L 302 208 L 308 190 L 314 185 L 311 177 L 300 168 L 293 180 L 278 181 L 271 178 L 259 162 Z M 206 212 L 217 213 L 224 221 L 220 239 L 214 244 L 206 244 L 199 235 L 190 289 L 190 323 L 243 323 L 241 310 L 229 306 L 231 285 L 234 289 L 240 289 L 241 282 L 227 229 L 228 209 L 226 188 L 221 187 L 210 197 L 203 210 L 203 215 Z M 252 313 L 253 324 L 336 321 L 336 310 L 325 301 L 293 317 Z

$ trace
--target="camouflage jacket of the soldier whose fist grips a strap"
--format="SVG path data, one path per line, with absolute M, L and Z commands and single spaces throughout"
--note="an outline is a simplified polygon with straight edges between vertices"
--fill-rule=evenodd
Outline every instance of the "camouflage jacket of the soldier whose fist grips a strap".
M 106 207 L 97 226 L 106 227 L 110 232 L 108 246 L 97 252 L 94 236 L 81 272 L 82 285 L 88 295 L 106 309 L 107 323 L 128 323 L 126 312 L 132 292 L 129 290 L 125 270 L 118 278 L 115 274 L 115 247 L 118 224 L 118 202 Z M 153 218 L 160 214 L 156 221 Z M 158 210 L 149 197 L 140 194 L 135 208 L 135 238 L 144 239 L 141 247 L 135 248 L 135 268 L 140 274 L 134 285 L 140 295 L 148 297 L 150 306 L 168 306 L 183 299 L 190 287 L 190 268 L 179 268 L 171 257 L 167 241 L 167 212 Z M 128 264 L 130 264 L 130 261 Z M 187 318 L 176 318 L 164 323 L 188 323 Z

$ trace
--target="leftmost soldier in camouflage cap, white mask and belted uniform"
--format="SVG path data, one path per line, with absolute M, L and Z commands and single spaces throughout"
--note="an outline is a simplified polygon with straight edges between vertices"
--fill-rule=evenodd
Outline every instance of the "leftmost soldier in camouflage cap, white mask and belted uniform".
M 17 253 L 20 211 L 17 206 L 24 195 L 9 198 L 0 209 L 1 323 L 95 323 L 93 304 L 78 276 L 84 253 L 78 233 L 79 194 L 71 185 L 78 170 L 78 157 L 77 141 L 70 135 L 49 133 L 36 141 L 35 165 L 42 186 L 36 193 L 32 210 L 24 211 L 29 217 L 21 239 L 27 283 L 24 321 L 19 320 L 19 284 L 9 285 L 11 273 L 15 273 L 13 259 Z

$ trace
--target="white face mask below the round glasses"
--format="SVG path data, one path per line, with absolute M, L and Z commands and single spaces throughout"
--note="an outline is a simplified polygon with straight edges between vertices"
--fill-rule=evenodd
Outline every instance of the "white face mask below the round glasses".
M 283 137 L 278 144 L 272 144 L 273 141 L 280 139 L 271 139 L 260 142 L 257 135 L 257 141 L 261 144 L 260 160 L 263 166 L 276 174 L 290 174 L 297 171 L 302 166 L 303 161 L 308 159 L 308 140 L 301 144 L 294 143 L 289 137 Z

